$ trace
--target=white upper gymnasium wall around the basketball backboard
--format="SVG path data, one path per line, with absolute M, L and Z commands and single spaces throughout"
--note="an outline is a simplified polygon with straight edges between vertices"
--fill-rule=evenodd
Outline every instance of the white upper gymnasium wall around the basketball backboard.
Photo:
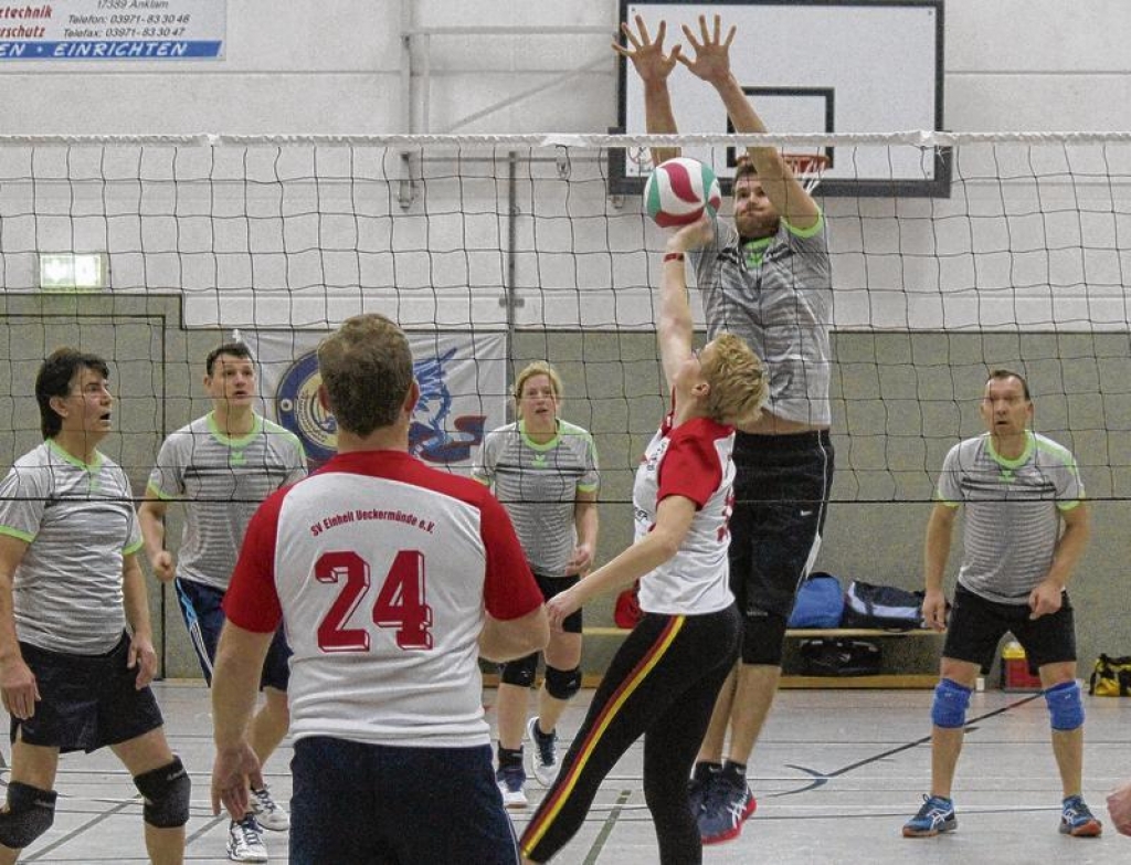
M 1131 129 L 1131 3 L 1091 0 L 1087 16 L 1080 6 L 950 0 L 947 127 Z M 618 122 L 613 0 L 227 7 L 221 61 L 0 61 L 3 131 L 605 132 Z M 402 207 L 395 149 L 0 147 L 0 289 L 34 291 L 41 251 L 102 251 L 115 291 L 183 292 L 199 326 L 325 326 L 386 304 L 409 326 L 502 328 L 508 291 L 524 304 L 519 327 L 653 326 L 661 233 L 638 202 L 607 194 L 603 162 L 575 150 L 566 183 L 560 148 L 527 152 L 511 201 L 506 148 L 458 166 L 435 153 L 412 166 L 421 182 Z M 838 159 L 852 164 L 848 154 Z M 972 146 L 949 199 L 829 198 L 835 323 L 1124 329 L 1129 179 L 1126 145 Z

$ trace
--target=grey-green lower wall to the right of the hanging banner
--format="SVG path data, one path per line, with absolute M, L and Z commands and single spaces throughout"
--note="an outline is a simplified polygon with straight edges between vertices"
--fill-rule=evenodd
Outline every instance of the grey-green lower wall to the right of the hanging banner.
M 1076 452 L 1088 488 L 1093 537 L 1071 583 L 1081 674 L 1100 652 L 1131 650 L 1126 527 L 1131 525 L 1131 417 L 1128 336 L 1056 334 L 835 335 L 834 444 L 838 473 L 819 570 L 922 588 L 923 536 L 930 496 L 949 448 L 983 431 L 977 401 L 987 363 L 1029 378 L 1035 427 Z M 603 472 L 602 561 L 632 539 L 631 477 L 636 455 L 655 431 L 665 401 L 650 335 L 518 334 L 516 367 L 549 358 L 566 386 L 563 415 L 593 430 Z M 620 358 L 623 370 L 610 365 Z M 983 361 L 982 358 L 986 358 Z M 1099 398 L 1100 387 L 1105 391 Z M 1116 429 L 1113 429 L 1116 427 Z M 884 430 L 889 434 L 882 434 Z M 627 431 L 627 432 L 625 432 Z M 846 434 L 851 431 L 851 434 Z M 891 431 L 903 435 L 892 435 Z M 1119 498 L 1116 498 L 1119 496 Z M 960 548 L 956 531 L 948 591 Z M 608 624 L 608 608 L 586 611 Z M 592 639 L 586 669 L 606 663 L 613 641 Z M 930 672 L 930 646 L 888 646 L 889 664 Z M 893 667 L 891 667 L 893 668 Z

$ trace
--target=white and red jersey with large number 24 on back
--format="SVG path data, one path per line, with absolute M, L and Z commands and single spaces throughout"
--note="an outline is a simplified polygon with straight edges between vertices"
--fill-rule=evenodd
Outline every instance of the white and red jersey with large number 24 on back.
M 398 451 L 334 457 L 256 512 L 224 599 L 240 628 L 282 620 L 295 738 L 487 744 L 478 637 L 542 604 L 502 505 Z

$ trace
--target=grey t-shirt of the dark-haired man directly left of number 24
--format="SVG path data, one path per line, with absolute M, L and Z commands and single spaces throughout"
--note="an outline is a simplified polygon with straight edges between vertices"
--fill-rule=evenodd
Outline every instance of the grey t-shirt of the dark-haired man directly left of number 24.
M 184 501 L 176 576 L 227 590 L 251 514 L 268 495 L 307 476 L 307 456 L 291 431 L 256 416 L 239 439 L 224 435 L 211 413 L 165 439 L 149 490 Z

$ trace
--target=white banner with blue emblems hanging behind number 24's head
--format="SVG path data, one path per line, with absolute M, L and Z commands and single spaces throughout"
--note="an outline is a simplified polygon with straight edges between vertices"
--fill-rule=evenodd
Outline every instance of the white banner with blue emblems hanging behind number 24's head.
M 269 417 L 302 441 L 312 466 L 337 447 L 334 416 L 318 401 L 318 344 L 326 331 L 244 334 L 259 365 Z M 438 468 L 470 470 L 489 430 L 507 423 L 506 338 L 491 334 L 408 334 L 421 399 L 409 431 L 413 455 Z

